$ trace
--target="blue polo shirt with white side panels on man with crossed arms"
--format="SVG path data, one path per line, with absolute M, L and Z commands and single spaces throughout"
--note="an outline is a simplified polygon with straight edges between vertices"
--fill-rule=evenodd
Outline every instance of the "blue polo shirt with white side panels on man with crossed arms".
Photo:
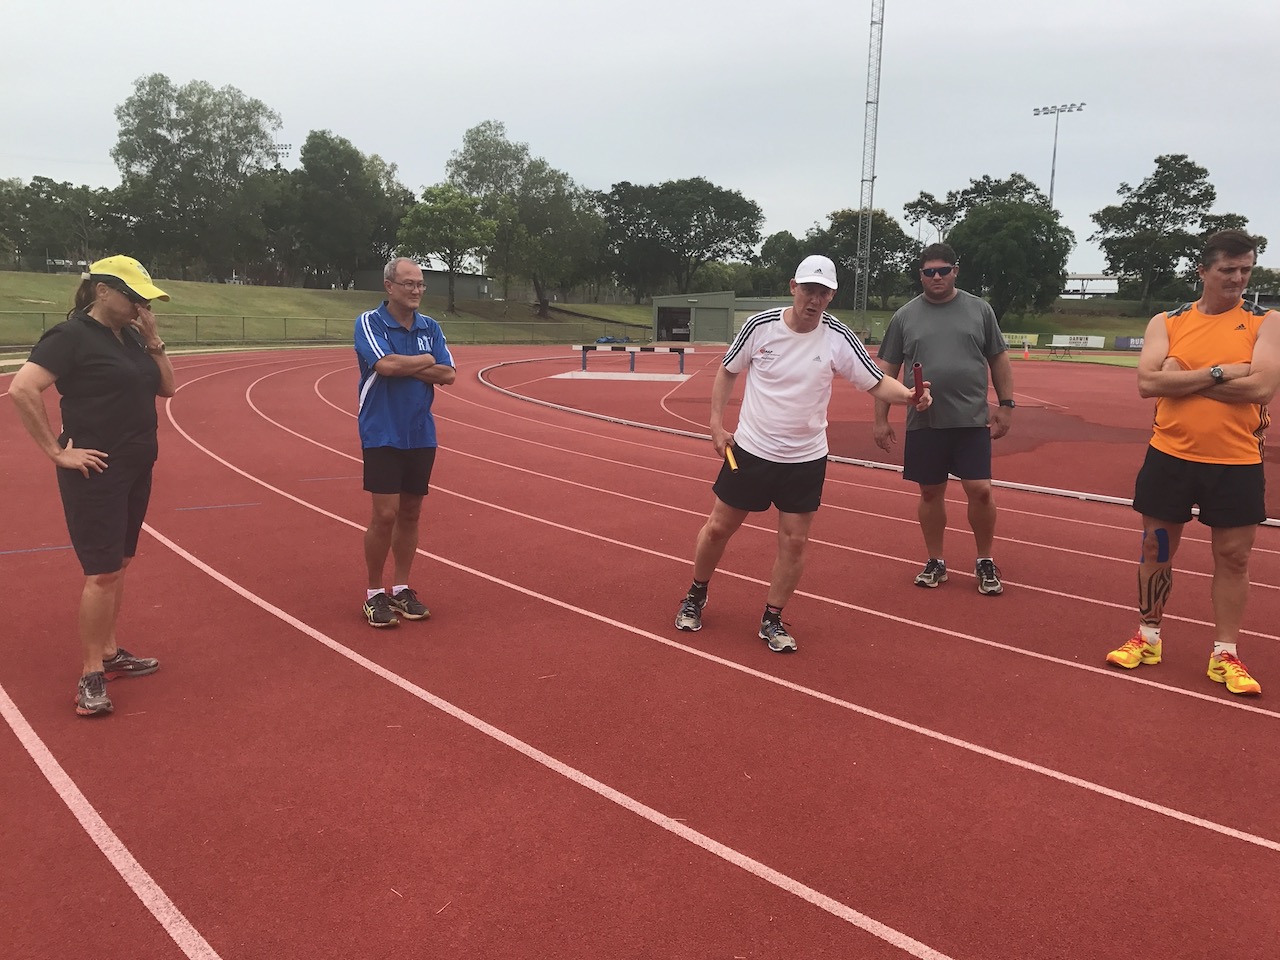
M 402 451 L 435 447 L 431 401 L 435 384 L 416 376 L 381 376 L 374 364 L 394 353 L 420 357 L 430 353 L 436 364 L 456 366 L 444 330 L 429 316 L 415 311 L 413 325 L 404 329 L 387 310 L 361 314 L 356 320 L 356 357 L 360 361 L 360 445 L 397 447 Z

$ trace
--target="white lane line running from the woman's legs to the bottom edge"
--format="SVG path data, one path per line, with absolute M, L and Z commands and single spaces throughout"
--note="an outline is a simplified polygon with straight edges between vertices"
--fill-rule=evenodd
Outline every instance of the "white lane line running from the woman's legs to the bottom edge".
M 492 723 L 486 723 L 485 721 L 480 719 L 479 717 L 471 713 L 467 713 L 460 707 L 454 707 L 448 700 L 444 700 L 436 696 L 435 694 L 424 690 L 417 684 L 413 684 L 402 677 L 401 675 L 387 669 L 385 667 L 383 667 L 379 663 L 375 663 L 367 657 L 362 657 L 361 654 L 352 650 L 349 646 L 344 646 L 343 644 L 338 643 L 326 634 L 323 634 L 315 627 L 300 621 L 297 617 L 285 613 L 279 607 L 268 603 L 257 594 L 250 591 L 248 589 L 241 586 L 230 577 L 227 577 L 219 571 L 214 570 L 207 563 L 201 561 L 198 557 L 192 556 L 182 547 L 175 544 L 173 540 L 156 531 L 150 525 L 145 526 L 146 531 L 156 540 L 159 540 L 161 544 L 168 547 L 170 550 L 177 553 L 179 557 L 182 557 L 184 561 L 191 563 L 197 570 L 202 571 L 207 576 L 216 580 L 228 590 L 239 594 L 242 598 L 252 603 L 255 607 L 265 611 L 266 613 L 270 613 L 276 620 L 288 623 L 294 630 L 305 634 L 306 636 L 310 636 L 312 640 L 328 646 L 334 653 L 346 657 L 352 663 L 364 667 L 370 673 L 380 677 L 381 680 L 385 680 L 388 684 L 399 687 L 401 690 L 410 694 L 411 696 L 417 698 L 422 703 L 434 707 L 442 713 L 445 713 L 449 717 L 453 717 L 454 719 L 466 723 L 472 730 L 476 730 L 480 733 L 484 733 L 485 736 L 497 740 L 503 746 L 507 746 L 515 750 L 516 753 L 527 756 L 530 760 L 541 764 L 553 773 L 558 773 L 559 776 L 576 783 L 577 786 L 590 790 L 593 794 L 604 797 L 609 803 L 617 804 L 623 810 L 635 814 L 636 817 L 640 817 L 648 820 L 649 823 L 660 827 L 664 831 L 668 831 L 669 833 L 676 835 L 681 840 L 694 844 L 695 846 L 705 850 L 713 856 L 718 856 L 726 863 L 732 864 L 733 867 L 737 867 L 739 869 L 745 870 L 754 877 L 758 877 L 765 883 L 773 884 L 785 893 L 790 893 L 791 896 L 805 900 L 809 904 L 817 906 L 819 910 L 824 910 L 832 916 L 845 920 L 846 923 L 852 924 L 854 927 L 858 927 L 859 929 L 865 931 L 867 933 L 870 933 L 873 937 L 878 937 L 886 943 L 890 943 L 897 947 L 899 950 L 910 954 L 911 956 L 920 957 L 922 960 L 950 960 L 950 957 L 947 957 L 946 954 L 934 950 L 927 943 L 922 943 L 920 941 L 909 937 L 901 931 L 888 927 L 887 924 L 883 924 L 879 920 L 872 919 L 867 914 L 854 910 L 851 906 L 847 906 L 840 902 L 838 900 L 827 896 L 826 893 L 820 893 L 813 887 L 809 887 L 801 883 L 800 881 L 795 879 L 794 877 L 788 877 L 787 874 L 781 873 L 780 870 L 774 870 L 772 867 L 768 867 L 760 863 L 759 860 L 754 860 L 746 854 L 741 854 L 731 846 L 726 846 L 719 841 L 712 840 L 705 833 L 699 833 L 698 831 L 686 827 L 680 820 L 667 817 L 666 814 L 653 809 L 652 806 L 646 806 L 645 804 L 628 796 L 627 794 L 623 794 L 622 791 L 611 787 L 608 783 L 603 783 L 595 780 L 594 777 L 584 773 L 582 771 L 577 769 L 576 767 L 570 767 L 567 763 L 557 760 L 550 754 L 543 753 L 538 748 L 526 744 L 524 740 L 520 740 L 512 736 L 511 733 L 507 733 L 504 730 L 500 730 L 499 727 L 495 727 Z

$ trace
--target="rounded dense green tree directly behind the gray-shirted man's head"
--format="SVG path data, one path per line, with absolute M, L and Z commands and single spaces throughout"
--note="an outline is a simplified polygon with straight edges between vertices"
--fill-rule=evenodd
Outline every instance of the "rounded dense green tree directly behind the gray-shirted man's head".
M 1075 237 L 1047 204 L 998 200 L 972 207 L 947 242 L 960 259 L 961 284 L 984 294 L 1004 321 L 1057 300 Z

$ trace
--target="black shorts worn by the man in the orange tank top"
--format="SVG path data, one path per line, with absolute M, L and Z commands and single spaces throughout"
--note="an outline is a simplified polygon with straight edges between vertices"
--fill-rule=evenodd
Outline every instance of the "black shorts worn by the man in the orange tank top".
M 1261 463 L 1197 463 L 1148 447 L 1133 508 L 1166 524 L 1185 524 L 1196 504 L 1204 526 L 1253 526 L 1267 518 L 1265 494 Z

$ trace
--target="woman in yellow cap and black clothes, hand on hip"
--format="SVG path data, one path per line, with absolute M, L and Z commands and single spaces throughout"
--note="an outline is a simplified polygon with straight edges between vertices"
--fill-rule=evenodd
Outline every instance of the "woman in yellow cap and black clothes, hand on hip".
M 9 385 L 27 433 L 58 466 L 67 529 L 84 571 L 84 662 L 76 692 L 82 717 L 111 712 L 108 680 L 160 667 L 115 640 L 124 570 L 151 497 L 155 398 L 175 390 L 152 300 L 169 294 L 137 260 L 113 256 L 90 265 L 67 320 L 45 332 Z M 61 434 L 50 426 L 41 397 L 54 385 L 61 394 Z

